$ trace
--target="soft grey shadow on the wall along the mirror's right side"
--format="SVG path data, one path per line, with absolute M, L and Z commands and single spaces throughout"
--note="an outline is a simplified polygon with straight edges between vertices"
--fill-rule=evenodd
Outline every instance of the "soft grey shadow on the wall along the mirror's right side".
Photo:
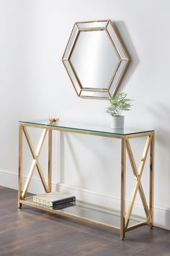
M 117 22 L 112 22 L 112 23 L 115 26 L 117 33 L 120 35 L 123 46 L 125 46 L 125 49 L 127 50 L 128 54 L 130 56 L 130 64 L 128 66 L 127 71 L 125 72 L 125 77 L 123 78 L 123 80 L 120 84 L 120 89 L 121 89 L 121 91 L 123 91 L 125 86 L 128 83 L 128 80 L 130 80 L 130 77 L 132 76 L 133 72 L 135 72 L 135 69 L 139 64 L 139 59 L 138 59 L 137 52 L 135 51 L 133 42 L 130 39 L 130 35 L 128 33 L 127 27 L 125 26 L 125 22 L 117 21 Z M 123 40 L 123 38 L 124 38 L 124 40 Z

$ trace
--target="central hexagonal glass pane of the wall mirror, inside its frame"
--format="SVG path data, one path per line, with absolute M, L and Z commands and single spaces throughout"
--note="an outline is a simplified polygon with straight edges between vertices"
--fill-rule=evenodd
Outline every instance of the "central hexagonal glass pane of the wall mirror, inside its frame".
M 81 31 L 70 61 L 82 88 L 107 89 L 119 58 L 104 30 Z

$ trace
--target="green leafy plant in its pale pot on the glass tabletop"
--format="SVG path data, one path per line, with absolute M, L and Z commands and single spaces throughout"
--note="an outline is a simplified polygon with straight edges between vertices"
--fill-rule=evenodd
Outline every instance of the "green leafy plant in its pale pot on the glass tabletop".
M 125 116 L 121 116 L 122 111 L 130 111 L 132 100 L 126 98 L 126 93 L 118 93 L 117 96 L 109 100 L 110 106 L 107 108 L 107 114 L 111 116 L 111 128 L 123 129 Z

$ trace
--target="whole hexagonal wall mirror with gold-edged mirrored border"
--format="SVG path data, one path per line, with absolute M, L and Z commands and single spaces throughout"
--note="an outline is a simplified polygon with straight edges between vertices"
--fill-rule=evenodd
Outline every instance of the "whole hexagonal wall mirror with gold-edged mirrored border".
M 62 58 L 81 98 L 111 98 L 117 93 L 128 54 L 110 20 L 76 22 Z

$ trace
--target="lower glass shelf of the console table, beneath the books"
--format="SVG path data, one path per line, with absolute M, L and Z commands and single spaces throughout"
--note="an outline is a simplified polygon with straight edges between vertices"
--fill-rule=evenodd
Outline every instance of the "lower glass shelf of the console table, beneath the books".
M 76 200 L 75 205 L 68 205 L 68 207 L 62 206 L 59 209 L 51 208 L 46 205 L 40 205 L 33 202 L 33 197 L 27 197 L 24 200 L 20 200 L 23 205 L 29 205 L 33 208 L 55 213 L 61 216 L 67 216 L 81 221 L 96 223 L 98 226 L 104 226 L 115 230 L 120 230 L 120 213 L 107 208 L 102 208 L 98 205 L 92 205 Z M 128 227 L 134 226 L 138 223 L 143 223 L 146 220 L 144 218 L 134 216 L 130 219 Z

